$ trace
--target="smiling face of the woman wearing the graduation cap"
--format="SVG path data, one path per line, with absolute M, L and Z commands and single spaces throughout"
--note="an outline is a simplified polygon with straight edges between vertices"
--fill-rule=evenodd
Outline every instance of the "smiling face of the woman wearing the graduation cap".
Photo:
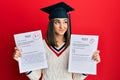
M 54 18 L 53 27 L 56 35 L 64 35 L 68 28 L 68 19 Z

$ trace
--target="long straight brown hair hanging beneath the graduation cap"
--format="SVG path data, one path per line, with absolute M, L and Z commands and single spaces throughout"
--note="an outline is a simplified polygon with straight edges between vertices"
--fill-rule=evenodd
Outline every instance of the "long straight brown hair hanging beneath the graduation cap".
M 55 39 L 55 31 L 53 27 L 54 19 L 51 19 L 48 24 L 48 30 L 46 34 L 46 41 L 51 46 L 57 46 L 56 39 Z M 70 27 L 69 27 L 69 21 L 68 21 L 68 28 L 67 31 L 64 34 L 65 38 L 65 47 L 68 47 L 70 44 Z

